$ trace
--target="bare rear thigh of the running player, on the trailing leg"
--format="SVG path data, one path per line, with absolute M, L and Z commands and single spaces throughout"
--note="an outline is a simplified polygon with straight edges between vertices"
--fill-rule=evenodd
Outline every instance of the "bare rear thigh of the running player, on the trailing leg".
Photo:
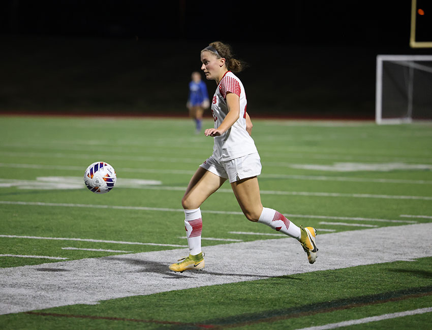
M 231 187 L 246 218 L 258 221 L 263 209 L 258 178 L 235 181 L 231 183 Z

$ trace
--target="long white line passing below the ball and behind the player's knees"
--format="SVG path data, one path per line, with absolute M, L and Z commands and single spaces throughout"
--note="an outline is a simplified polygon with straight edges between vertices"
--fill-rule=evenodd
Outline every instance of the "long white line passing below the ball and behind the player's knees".
M 181 213 L 184 212 L 183 209 L 150 208 L 150 207 L 144 207 L 144 206 L 116 206 L 116 205 L 66 204 L 66 203 L 18 202 L 18 201 L 0 201 L 0 204 L 78 207 L 78 208 L 95 208 L 95 209 L 120 209 L 120 210 L 138 210 L 138 211 L 162 211 L 162 212 L 181 212 Z M 201 210 L 201 213 L 243 215 L 243 212 L 238 212 L 238 211 Z M 338 217 L 338 216 L 327 216 L 327 215 L 305 215 L 305 214 L 289 214 L 289 213 L 283 213 L 283 214 L 286 217 L 290 217 L 290 218 L 377 221 L 377 222 L 394 222 L 394 223 L 417 223 L 417 221 L 414 221 L 414 220 L 390 220 L 390 219 L 375 219 L 375 218 L 360 218 L 360 217 Z

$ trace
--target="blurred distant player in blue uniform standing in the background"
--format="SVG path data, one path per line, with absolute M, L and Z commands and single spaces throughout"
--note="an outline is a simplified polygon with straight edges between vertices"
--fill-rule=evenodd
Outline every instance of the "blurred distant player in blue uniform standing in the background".
M 197 133 L 201 132 L 202 115 L 204 109 L 208 108 L 208 92 L 205 82 L 201 80 L 199 72 L 192 73 L 192 81 L 189 83 L 188 102 L 189 115 L 195 120 Z

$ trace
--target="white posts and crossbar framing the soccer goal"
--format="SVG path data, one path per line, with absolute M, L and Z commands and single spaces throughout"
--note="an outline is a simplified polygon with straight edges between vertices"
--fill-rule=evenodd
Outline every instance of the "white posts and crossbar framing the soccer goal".
M 404 67 L 410 68 L 409 82 L 408 82 L 408 116 L 405 118 L 383 118 L 382 117 L 382 91 L 383 91 L 383 61 L 391 61 Z M 423 71 L 431 72 L 432 69 L 414 63 L 414 61 L 432 61 L 432 55 L 377 55 L 377 78 L 376 78 L 376 98 L 375 98 L 375 122 L 377 124 L 402 124 L 410 123 L 412 119 L 412 96 L 413 96 L 413 75 L 414 69 L 421 69 Z

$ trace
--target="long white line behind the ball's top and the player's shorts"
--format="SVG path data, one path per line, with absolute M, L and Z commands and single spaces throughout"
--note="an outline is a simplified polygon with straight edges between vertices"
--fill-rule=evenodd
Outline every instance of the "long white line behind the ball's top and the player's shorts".
M 20 169 L 39 169 L 39 170 L 71 170 L 82 171 L 79 166 L 61 166 L 61 165 L 43 165 L 43 164 L 23 164 L 23 163 L 0 163 L 4 168 Z M 158 170 L 143 168 L 119 168 L 118 173 L 156 173 L 156 174 L 173 174 L 173 175 L 193 175 L 195 171 L 188 170 Z M 272 179 L 292 179 L 292 180 L 313 180 L 313 181 L 341 181 L 341 182 L 374 182 L 374 183 L 402 183 L 402 184 L 432 184 L 431 180 L 403 180 L 403 179 L 385 179 L 385 178 L 355 178 L 355 177 L 333 177 L 323 175 L 289 175 L 289 174 L 261 174 L 260 178 Z

